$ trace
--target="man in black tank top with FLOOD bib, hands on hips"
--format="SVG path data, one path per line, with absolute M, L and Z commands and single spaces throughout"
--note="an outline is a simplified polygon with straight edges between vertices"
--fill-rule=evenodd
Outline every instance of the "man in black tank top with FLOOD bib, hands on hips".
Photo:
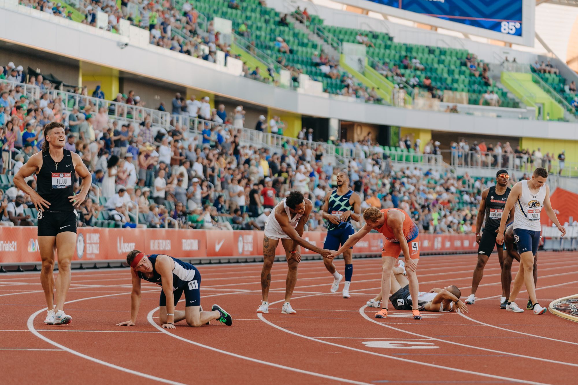
M 31 156 L 14 176 L 14 185 L 30 196 L 38 210 L 38 244 L 42 259 L 40 283 L 44 290 L 48 314 L 47 325 L 69 324 L 72 317 L 64 313 L 64 301 L 71 284 L 71 260 L 76 249 L 76 208 L 90 189 L 90 172 L 76 153 L 64 149 L 64 125 L 51 122 L 44 127 L 42 151 Z M 37 190 L 25 182 L 36 174 Z M 75 175 L 82 179 L 75 195 Z M 58 254 L 58 277 L 54 282 L 54 248 Z M 54 297 L 54 288 L 56 295 Z M 54 299 L 56 303 L 54 303 Z

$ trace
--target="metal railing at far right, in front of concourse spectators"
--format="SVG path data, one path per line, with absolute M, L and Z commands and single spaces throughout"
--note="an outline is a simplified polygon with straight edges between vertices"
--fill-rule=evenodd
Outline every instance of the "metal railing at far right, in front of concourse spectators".
M 549 173 L 562 177 L 578 177 L 578 162 L 564 161 L 560 164 L 558 159 L 537 158 L 523 154 L 497 154 L 495 152 L 442 150 L 444 158 L 449 157 L 449 163 L 454 168 L 468 169 L 507 169 L 531 173 L 535 168 L 546 168 Z

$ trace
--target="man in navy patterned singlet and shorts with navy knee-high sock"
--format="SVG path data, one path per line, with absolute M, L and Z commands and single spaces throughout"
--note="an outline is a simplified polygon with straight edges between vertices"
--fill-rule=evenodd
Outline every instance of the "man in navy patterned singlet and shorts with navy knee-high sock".
M 329 191 L 325 195 L 325 203 L 321 208 L 323 217 L 327 219 L 327 238 L 325 238 L 324 249 L 338 250 L 351 235 L 355 233 L 351 220 L 359 221 L 361 214 L 361 198 L 357 193 L 349 189 L 349 177 L 347 173 L 340 172 L 337 175 L 337 189 Z M 343 287 L 343 298 L 349 298 L 349 285 L 353 276 L 353 261 L 351 261 L 353 247 L 343 252 L 345 261 L 345 285 Z M 327 270 L 333 275 L 334 281 L 331 285 L 331 293 L 335 293 L 339 288 L 339 282 L 343 279 L 333 264 L 332 259 L 323 258 Z

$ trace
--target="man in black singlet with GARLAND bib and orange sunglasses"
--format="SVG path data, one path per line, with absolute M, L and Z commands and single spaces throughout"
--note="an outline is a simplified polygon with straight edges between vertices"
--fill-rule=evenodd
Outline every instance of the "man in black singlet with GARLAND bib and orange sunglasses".
M 486 188 L 486 190 L 481 193 L 480 209 L 477 212 L 476 224 L 476 241 L 479 244 L 477 249 L 477 264 L 473 271 L 472 294 L 464 301 L 468 305 L 473 305 L 476 302 L 476 290 L 480 284 L 481 277 L 484 275 L 484 266 L 486 266 L 490 254 L 494 251 L 494 246 L 498 248 L 498 260 L 500 261 L 500 266 L 503 266 L 503 246 L 496 243 L 496 236 L 498 235 L 496 231 L 500 227 L 502 215 L 506 214 L 503 212 L 503 209 L 506 206 L 507 196 L 510 194 L 510 188 L 507 187 L 509 180 L 510 175 L 508 175 L 506 170 L 502 169 L 496 173 L 495 186 Z M 508 214 L 509 221 L 513 221 L 514 209 Z M 480 229 L 484 222 L 484 217 L 486 219 L 486 225 L 484 225 L 484 232 L 480 236 Z M 505 274 L 502 272 L 502 298 L 500 303 L 504 302 L 503 297 L 506 296 L 504 280 Z M 510 291 L 509 286 L 507 291 Z

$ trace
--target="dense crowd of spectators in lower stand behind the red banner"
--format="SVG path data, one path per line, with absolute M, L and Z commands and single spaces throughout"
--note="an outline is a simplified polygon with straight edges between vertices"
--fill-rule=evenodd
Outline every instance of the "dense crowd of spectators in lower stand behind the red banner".
M 4 72 L 11 69 L 7 66 Z M 309 228 L 325 228 L 318 211 L 325 194 L 336 186 L 340 168 L 324 160 L 323 147 L 312 141 L 309 129 L 300 134 L 307 144 L 284 139 L 283 151 L 272 153 L 259 143 L 240 143 L 234 123 L 243 125 L 242 106 L 232 112 L 226 112 L 224 106 L 209 109 L 223 124 L 207 123 L 195 134 L 175 122 L 168 128 L 155 126 L 150 116 L 140 123 L 111 120 L 105 109 L 94 110 L 92 99 L 83 108 L 75 106 L 69 111 L 50 92 L 42 92 L 35 100 L 9 83 L 0 84 L 1 99 L 8 103 L 0 115 L 2 173 L 17 173 L 39 151 L 43 124 L 61 121 L 68 139 L 65 148 L 78 153 L 92 175 L 90 199 L 80 209 L 79 225 L 95 225 L 106 217 L 119 227 L 136 227 L 131 212 L 138 206 L 142 214 L 139 227 L 262 229 L 269 210 L 295 189 L 314 202 Z M 79 91 L 86 94 L 86 88 Z M 134 92 L 126 98 L 117 96 L 121 103 L 140 102 Z M 201 112 L 205 102 L 205 98 L 202 102 L 194 98 L 183 101 L 177 94 L 172 112 L 205 117 L 207 113 Z M 277 133 L 283 129 L 277 116 L 262 126 L 268 131 L 275 127 Z M 344 141 L 342 146 L 359 150 L 347 171 L 363 208 L 376 205 L 408 210 L 424 231 L 469 231 L 472 212 L 454 206 L 458 199 L 462 201 L 455 195 L 460 191 L 452 187 L 457 186 L 455 180 L 418 168 L 393 171 L 387 156 L 372 154 L 379 146 L 370 136 L 358 143 Z M 34 176 L 28 183 L 35 184 Z M 75 188 L 79 189 L 79 181 Z M 23 212 L 33 207 L 29 197 L 13 186 L 3 195 L 3 223 L 34 222 Z

